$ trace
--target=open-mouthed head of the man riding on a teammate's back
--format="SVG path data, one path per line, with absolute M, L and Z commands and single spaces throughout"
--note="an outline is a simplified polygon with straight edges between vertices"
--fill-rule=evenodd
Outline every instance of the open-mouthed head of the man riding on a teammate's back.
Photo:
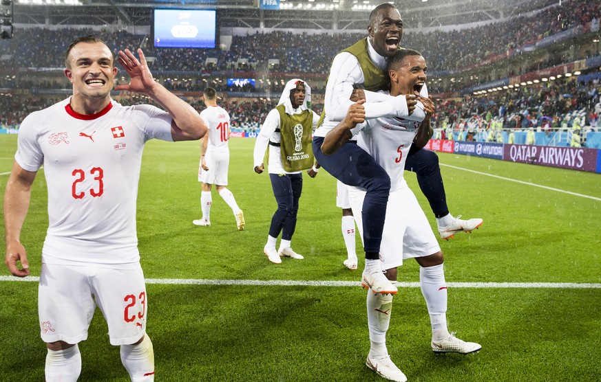
M 403 20 L 397 8 L 381 8 L 370 17 L 368 26 L 372 47 L 380 56 L 394 56 L 403 38 Z

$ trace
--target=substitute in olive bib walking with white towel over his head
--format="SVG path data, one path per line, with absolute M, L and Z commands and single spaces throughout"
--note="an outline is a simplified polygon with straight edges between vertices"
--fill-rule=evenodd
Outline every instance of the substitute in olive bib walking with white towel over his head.
M 319 115 L 310 109 L 310 100 L 311 88 L 306 82 L 298 78 L 286 82 L 280 102 L 265 117 L 255 142 L 253 156 L 257 174 L 265 169 L 263 157 L 269 146 L 267 169 L 277 210 L 271 218 L 263 252 L 274 264 L 280 264 L 281 257 L 304 258 L 293 251 L 291 240 L 303 189 L 302 170 L 310 168 L 314 160 L 311 133 L 317 126 Z M 282 240 L 280 249 L 276 251 L 275 244 L 280 233 Z

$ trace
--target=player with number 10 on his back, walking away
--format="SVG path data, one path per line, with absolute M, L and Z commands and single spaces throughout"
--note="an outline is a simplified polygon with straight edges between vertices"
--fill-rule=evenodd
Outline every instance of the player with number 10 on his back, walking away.
M 212 87 L 204 89 L 202 99 L 207 109 L 200 112 L 200 117 L 209 126 L 209 132 L 201 140 L 200 166 L 198 181 L 202 182 L 200 205 L 202 218 L 192 221 L 194 225 L 211 225 L 211 187 L 217 188 L 218 194 L 229 205 L 235 218 L 238 230 L 244 229 L 244 213 L 238 207 L 236 199 L 227 186 L 227 170 L 229 168 L 229 113 L 217 104 L 217 92 Z

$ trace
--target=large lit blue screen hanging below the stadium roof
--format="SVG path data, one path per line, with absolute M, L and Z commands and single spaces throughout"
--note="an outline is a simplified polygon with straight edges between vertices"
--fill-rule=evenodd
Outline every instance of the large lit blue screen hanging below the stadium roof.
M 214 48 L 217 39 L 215 10 L 160 9 L 153 12 L 155 47 Z

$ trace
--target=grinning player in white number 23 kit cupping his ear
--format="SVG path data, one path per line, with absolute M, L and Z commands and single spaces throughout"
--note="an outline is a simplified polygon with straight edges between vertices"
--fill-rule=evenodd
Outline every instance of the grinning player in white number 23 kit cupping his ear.
M 4 195 L 6 265 L 30 274 L 19 236 L 36 173 L 44 166 L 49 227 L 39 282 L 41 338 L 48 348 L 45 381 L 76 381 L 78 342 L 96 306 L 120 346 L 131 381 L 154 381 L 154 352 L 146 335 L 148 298 L 136 235 L 136 198 L 142 150 L 149 139 L 200 139 L 200 115 L 155 82 L 146 58 L 118 53 L 131 77 L 116 90 L 148 95 L 150 105 L 121 106 L 111 99 L 114 56 L 95 36 L 76 39 L 65 55 L 73 95 L 36 111 L 19 128 L 17 153 Z M 20 265 L 19 265 L 20 262 Z

